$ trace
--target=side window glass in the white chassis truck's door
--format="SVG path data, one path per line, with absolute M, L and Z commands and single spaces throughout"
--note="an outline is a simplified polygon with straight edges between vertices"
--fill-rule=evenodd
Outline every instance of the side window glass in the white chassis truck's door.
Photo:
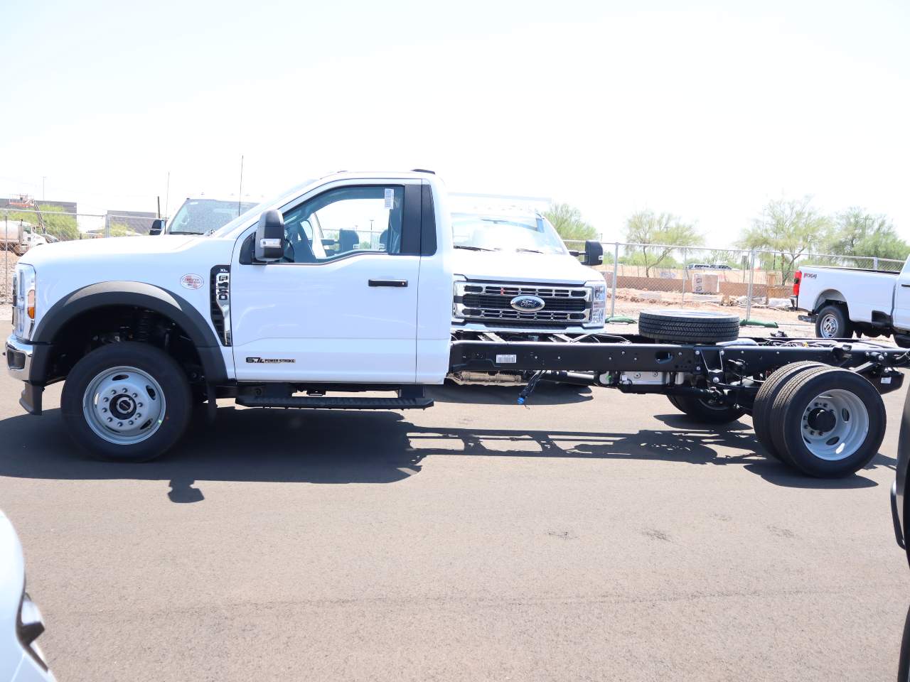
M 330 189 L 284 214 L 285 261 L 323 263 L 359 251 L 401 253 L 402 186 Z

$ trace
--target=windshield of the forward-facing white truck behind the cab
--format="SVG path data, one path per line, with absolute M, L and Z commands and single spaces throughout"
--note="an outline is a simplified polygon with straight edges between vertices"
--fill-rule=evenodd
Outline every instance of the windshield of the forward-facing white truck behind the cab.
M 478 251 L 567 253 L 550 221 L 542 216 L 453 213 L 452 241 L 456 248 Z

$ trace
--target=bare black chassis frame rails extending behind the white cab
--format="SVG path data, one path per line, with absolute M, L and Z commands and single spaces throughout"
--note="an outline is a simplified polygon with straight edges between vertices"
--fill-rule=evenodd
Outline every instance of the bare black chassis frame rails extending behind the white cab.
M 543 373 L 623 393 L 710 397 L 751 413 L 763 380 L 782 366 L 813 361 L 848 369 L 885 394 L 903 384 L 897 368 L 910 365 L 905 348 L 868 340 L 769 336 L 682 344 L 602 333 L 553 333 L 531 341 L 513 336 L 520 335 L 459 332 L 452 339 L 450 371 Z M 678 376 L 689 380 L 672 380 Z

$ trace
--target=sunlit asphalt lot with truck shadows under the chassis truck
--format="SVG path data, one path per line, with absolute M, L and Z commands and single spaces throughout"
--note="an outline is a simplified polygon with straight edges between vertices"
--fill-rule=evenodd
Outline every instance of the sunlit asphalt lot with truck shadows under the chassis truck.
M 662 396 L 444 387 L 420 412 L 197 415 L 76 451 L 0 377 L 0 507 L 66 680 L 880 680 L 910 592 L 871 466 L 769 460 Z

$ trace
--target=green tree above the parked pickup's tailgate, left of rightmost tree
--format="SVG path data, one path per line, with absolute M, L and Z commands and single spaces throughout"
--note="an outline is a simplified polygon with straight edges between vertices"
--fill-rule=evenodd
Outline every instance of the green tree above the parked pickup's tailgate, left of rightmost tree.
M 780 269 L 782 281 L 791 279 L 794 263 L 803 254 L 817 251 L 828 233 L 831 220 L 812 206 L 812 197 L 775 199 L 765 206 L 763 216 L 743 230 L 738 245 L 775 252 L 763 255 L 763 267 Z

